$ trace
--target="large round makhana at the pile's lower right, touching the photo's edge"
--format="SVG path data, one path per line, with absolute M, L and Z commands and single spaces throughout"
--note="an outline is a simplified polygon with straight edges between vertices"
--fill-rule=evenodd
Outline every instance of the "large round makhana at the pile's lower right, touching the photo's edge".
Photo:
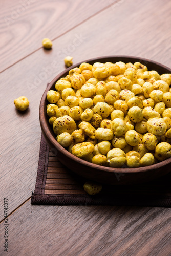
M 167 142 L 159 143 L 155 148 L 155 157 L 159 161 L 164 161 L 171 157 L 171 145 Z

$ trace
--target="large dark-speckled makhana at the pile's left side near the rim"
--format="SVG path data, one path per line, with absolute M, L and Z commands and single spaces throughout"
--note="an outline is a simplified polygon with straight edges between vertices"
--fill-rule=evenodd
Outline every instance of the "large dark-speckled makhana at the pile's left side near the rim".
M 64 132 L 71 134 L 74 130 L 76 130 L 76 128 L 77 125 L 74 119 L 67 115 L 58 117 L 53 123 L 53 131 L 56 135 Z

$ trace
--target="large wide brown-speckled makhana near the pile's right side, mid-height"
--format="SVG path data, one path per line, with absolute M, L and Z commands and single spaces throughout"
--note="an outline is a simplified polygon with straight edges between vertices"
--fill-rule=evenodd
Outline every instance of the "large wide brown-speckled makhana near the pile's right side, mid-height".
M 147 131 L 154 135 L 163 135 L 167 129 L 167 124 L 162 118 L 150 118 L 146 122 Z

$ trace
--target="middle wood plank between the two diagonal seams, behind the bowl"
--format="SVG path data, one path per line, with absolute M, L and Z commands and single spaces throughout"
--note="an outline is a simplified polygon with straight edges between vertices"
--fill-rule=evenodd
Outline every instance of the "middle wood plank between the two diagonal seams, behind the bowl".
M 40 49 L 1 73 L 0 195 L 1 201 L 9 198 L 10 212 L 34 191 L 41 134 L 39 102 L 47 82 L 65 68 L 62 51 L 73 45 L 76 34 L 82 33 L 80 45 L 73 45 L 70 51 L 74 63 L 100 55 L 125 54 L 170 66 L 170 8 L 171 2 L 166 0 L 164 4 L 159 0 L 120 1 L 54 40 L 53 51 Z M 21 95 L 30 100 L 26 113 L 19 113 L 13 105 Z M 3 217 L 1 204 L 0 219 Z

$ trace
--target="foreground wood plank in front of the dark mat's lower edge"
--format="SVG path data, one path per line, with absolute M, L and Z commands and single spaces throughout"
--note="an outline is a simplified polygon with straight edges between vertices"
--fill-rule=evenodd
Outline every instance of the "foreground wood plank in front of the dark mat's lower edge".
M 36 206 L 28 201 L 9 217 L 8 255 L 169 256 L 170 219 L 166 208 Z

